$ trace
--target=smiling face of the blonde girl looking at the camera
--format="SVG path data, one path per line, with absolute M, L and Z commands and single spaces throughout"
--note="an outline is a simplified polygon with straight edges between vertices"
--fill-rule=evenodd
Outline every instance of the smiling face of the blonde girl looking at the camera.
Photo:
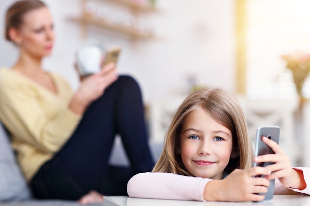
M 198 107 L 183 121 L 180 150 L 186 169 L 196 177 L 222 179 L 233 149 L 229 129 Z

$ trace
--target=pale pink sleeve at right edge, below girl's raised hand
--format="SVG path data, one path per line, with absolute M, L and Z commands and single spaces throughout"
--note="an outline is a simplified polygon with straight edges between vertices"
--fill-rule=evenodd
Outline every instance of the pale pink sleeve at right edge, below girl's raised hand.
M 290 194 L 290 191 L 292 191 L 292 190 L 295 192 L 310 195 L 310 168 L 294 167 L 294 169 L 297 169 L 297 170 L 300 170 L 303 172 L 304 180 L 306 182 L 306 188 L 303 190 L 294 189 L 294 188 L 287 188 L 287 187 L 284 187 L 278 179 L 275 179 L 275 186 L 274 186 L 274 194 L 275 195 Z

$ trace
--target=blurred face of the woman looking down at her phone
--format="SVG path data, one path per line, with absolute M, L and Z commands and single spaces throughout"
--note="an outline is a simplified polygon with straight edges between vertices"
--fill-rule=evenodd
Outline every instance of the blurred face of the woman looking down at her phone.
M 15 42 L 22 52 L 36 58 L 48 56 L 54 44 L 53 19 L 46 7 L 29 11 L 23 16 Z

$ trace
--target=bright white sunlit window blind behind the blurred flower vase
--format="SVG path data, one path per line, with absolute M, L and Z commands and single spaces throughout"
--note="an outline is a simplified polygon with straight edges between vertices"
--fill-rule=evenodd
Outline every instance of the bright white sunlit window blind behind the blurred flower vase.
M 282 55 L 310 53 L 310 0 L 247 0 L 246 94 L 249 98 L 297 95 Z M 310 78 L 303 86 L 310 97 Z

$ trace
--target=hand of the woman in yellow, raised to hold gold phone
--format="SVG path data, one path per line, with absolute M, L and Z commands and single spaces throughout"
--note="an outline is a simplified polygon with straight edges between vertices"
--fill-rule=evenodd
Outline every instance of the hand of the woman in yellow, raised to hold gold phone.
M 118 78 L 114 63 L 110 63 L 96 74 L 82 79 L 80 87 L 72 98 L 69 108 L 76 114 L 83 114 L 87 106 L 103 95 L 105 89 Z

